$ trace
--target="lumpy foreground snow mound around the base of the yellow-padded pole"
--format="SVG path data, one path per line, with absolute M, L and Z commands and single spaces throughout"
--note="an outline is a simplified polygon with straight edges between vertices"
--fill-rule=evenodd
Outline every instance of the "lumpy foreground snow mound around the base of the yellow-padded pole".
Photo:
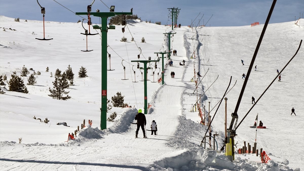
M 248 162 L 237 157 L 231 162 L 226 155 L 210 148 L 188 148 L 154 162 L 151 170 L 246 170 L 246 171 L 292 171 L 288 166 L 269 160 L 268 163 Z

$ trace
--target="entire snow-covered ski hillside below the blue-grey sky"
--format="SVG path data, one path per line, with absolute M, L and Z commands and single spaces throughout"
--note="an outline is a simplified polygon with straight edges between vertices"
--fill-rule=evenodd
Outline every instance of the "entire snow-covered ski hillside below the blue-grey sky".
M 216 152 L 223 146 L 225 138 L 224 101 L 212 122 L 212 134 L 219 134 L 216 150 L 209 148 L 208 144 L 206 149 L 200 146 L 207 126 L 198 123 L 198 111 L 190 112 L 197 100 L 195 83 L 190 82 L 195 75 L 194 69 L 202 76 L 209 69 L 204 78 L 197 75 L 195 78 L 198 82 L 203 78 L 197 91 L 203 94 L 201 103 L 206 106 L 205 113 L 209 111 L 209 102 L 210 110 L 214 108 L 210 112 L 212 117 L 232 76 L 230 88 L 235 81 L 237 83 L 225 96 L 228 98 L 229 125 L 244 82 L 242 74 L 247 74 L 263 24 L 193 29 L 182 26 L 172 31 L 171 27 L 129 20 L 125 33 L 121 32 L 123 26 L 109 30 L 108 53 L 111 54 L 111 69 L 115 70 L 107 72 L 107 98 L 111 99 L 116 92 L 121 92 L 124 103 L 132 107 L 112 107 L 108 110 L 107 117 L 114 112 L 117 117 L 114 122 L 107 121 L 107 129 L 101 131 L 100 36 L 88 36 L 88 50 L 94 51 L 81 52 L 86 48 L 86 38 L 80 34 L 84 32 L 81 23 L 46 22 L 46 38 L 53 40 L 40 41 L 35 38 L 43 38 L 42 21 L 25 22 L 25 18 L 21 18 L 20 22 L 14 22 L 13 18 L 5 16 L 0 16 L 0 21 L 0 75 L 7 75 L 5 88 L 8 89 L 7 82 L 12 72 L 20 75 L 23 65 L 41 72 L 41 75 L 36 75 L 35 85 L 26 85 L 29 94 L 10 92 L 1 86 L 5 94 L 0 95 L 0 170 L 304 169 L 303 45 L 282 72 L 281 82 L 276 80 L 271 85 L 236 131 L 236 150 L 242 148 L 244 141 L 253 145 L 256 131 L 249 126 L 254 124 L 259 113 L 258 120 L 262 120 L 268 129 L 257 130 L 257 149 L 263 148 L 271 158 L 268 163 L 262 163 L 255 154 L 236 154 L 232 163 L 223 152 Z M 300 26 L 294 21 L 268 25 L 254 62 L 257 71 L 253 68 L 238 110 L 238 123 L 252 106 L 251 97 L 257 100 L 277 76 L 276 70 L 281 71 L 295 54 L 300 40 L 304 38 L 304 20 L 300 19 L 299 23 Z M 168 51 L 168 38 L 163 33 L 171 31 L 176 33 L 171 38 L 171 47 L 177 50 L 177 56 L 171 55 L 172 67 L 165 65 L 165 84 L 153 83 L 152 72 L 148 71 L 147 97 L 151 107 L 146 115 L 146 129 L 150 129 L 152 120 L 155 120 L 157 135 L 150 135 L 151 132 L 147 131 L 148 138 L 143 138 L 140 129 L 139 138 L 135 138 L 136 125 L 130 122 L 136 122 L 134 117 L 138 109 L 143 110 L 144 90 L 137 63 L 130 61 L 137 60 L 140 54 L 138 47 L 142 50 L 140 60 L 149 56 L 156 60 L 154 52 Z M 131 35 L 136 42 L 130 41 Z M 128 39 L 127 42 L 120 41 L 123 36 Z M 146 43 L 140 42 L 142 37 Z M 122 80 L 122 60 L 126 66 L 126 79 L 129 80 Z M 186 61 L 185 66 L 180 66 L 179 62 L 183 60 Z M 167 63 L 168 58 L 165 58 Z M 57 68 L 63 72 L 68 65 L 75 74 L 74 85 L 68 89 L 72 98 L 67 101 L 52 99 L 48 96 L 54 81 L 50 72 L 54 75 Z M 132 65 L 139 82 L 132 82 L 135 81 Z M 78 77 L 81 66 L 87 69 L 88 77 Z M 46 67 L 50 68 L 49 72 L 46 72 Z M 161 61 L 157 67 L 161 67 Z M 153 69 L 156 81 L 158 68 Z M 175 78 L 170 76 L 172 71 Z M 24 77 L 25 84 L 28 76 Z M 290 115 L 292 107 L 296 116 Z M 50 122 L 42 123 L 33 119 L 34 116 L 41 120 L 48 118 Z M 68 133 L 74 132 L 84 119 L 86 123 L 92 120 L 92 126 L 86 124 L 77 132 L 75 140 L 67 141 Z M 59 122 L 66 122 L 70 127 L 56 125 Z M 21 137 L 19 144 L 18 138 Z

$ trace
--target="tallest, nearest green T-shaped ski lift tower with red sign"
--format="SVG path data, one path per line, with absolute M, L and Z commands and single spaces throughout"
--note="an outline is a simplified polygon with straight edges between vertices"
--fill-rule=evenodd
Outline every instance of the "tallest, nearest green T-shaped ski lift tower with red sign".
M 98 25 L 93 26 L 93 29 L 101 30 L 101 118 L 100 129 L 107 128 L 107 32 L 108 29 L 115 29 L 115 26 L 107 26 L 108 17 L 116 15 L 133 15 L 133 8 L 131 12 L 114 12 L 115 6 L 110 7 L 110 12 L 76 12 L 76 15 L 93 15 L 101 18 L 101 27 Z

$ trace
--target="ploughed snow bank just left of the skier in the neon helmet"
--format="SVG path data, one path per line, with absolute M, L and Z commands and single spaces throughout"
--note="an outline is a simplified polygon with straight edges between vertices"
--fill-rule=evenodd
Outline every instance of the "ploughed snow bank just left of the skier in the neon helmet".
M 125 132 L 130 127 L 130 122 L 133 122 L 135 115 L 137 114 L 136 108 L 128 108 L 121 113 L 121 116 L 118 120 L 115 120 L 114 123 L 106 129 L 106 131 L 112 133 Z

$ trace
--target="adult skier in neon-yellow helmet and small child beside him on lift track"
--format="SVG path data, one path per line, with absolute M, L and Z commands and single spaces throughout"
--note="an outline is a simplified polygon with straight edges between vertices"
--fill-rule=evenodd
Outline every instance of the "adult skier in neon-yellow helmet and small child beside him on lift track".
M 137 135 L 138 135 L 138 131 L 141 127 L 142 131 L 143 131 L 143 138 L 147 138 L 146 136 L 146 130 L 145 130 L 145 127 L 146 124 L 147 124 L 147 120 L 146 120 L 146 116 L 145 114 L 142 113 L 143 111 L 141 109 L 138 110 L 136 116 L 135 116 L 135 120 L 137 120 L 137 129 L 136 129 L 136 132 L 135 132 L 135 138 L 138 138 Z M 157 124 L 155 122 L 155 120 L 152 120 L 152 123 L 150 125 L 150 128 L 151 128 L 151 135 L 156 135 L 156 131 L 157 131 Z

